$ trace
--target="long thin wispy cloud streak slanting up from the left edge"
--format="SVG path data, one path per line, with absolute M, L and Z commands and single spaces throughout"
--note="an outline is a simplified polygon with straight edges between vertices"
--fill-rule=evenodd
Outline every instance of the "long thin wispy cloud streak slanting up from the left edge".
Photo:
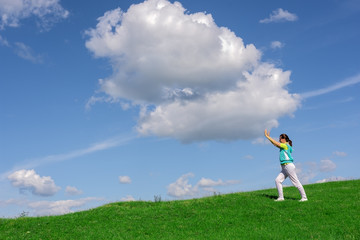
M 126 136 L 126 137 L 115 137 L 103 142 L 92 144 L 91 146 L 79 150 L 74 150 L 64 154 L 56 154 L 56 155 L 49 155 L 42 158 L 30 159 L 22 164 L 15 166 L 11 171 L 2 173 L 0 175 L 0 180 L 6 179 L 11 173 L 17 171 L 19 169 L 33 169 L 42 165 L 54 163 L 54 162 L 62 162 L 74 158 L 78 158 L 84 155 L 88 155 L 91 153 L 95 153 L 98 151 L 106 150 L 109 148 L 117 147 L 124 145 L 131 140 L 137 138 L 137 136 Z

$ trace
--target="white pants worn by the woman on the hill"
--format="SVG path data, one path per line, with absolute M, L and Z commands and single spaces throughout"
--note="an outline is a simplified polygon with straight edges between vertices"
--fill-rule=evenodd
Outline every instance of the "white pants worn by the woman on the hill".
M 276 188 L 278 189 L 279 198 L 284 198 L 284 193 L 282 189 L 282 183 L 284 180 L 289 177 L 292 184 L 299 190 L 301 198 L 307 198 L 304 187 L 301 185 L 295 171 L 295 165 L 293 163 L 289 163 L 287 165 L 281 165 L 281 172 L 275 179 Z

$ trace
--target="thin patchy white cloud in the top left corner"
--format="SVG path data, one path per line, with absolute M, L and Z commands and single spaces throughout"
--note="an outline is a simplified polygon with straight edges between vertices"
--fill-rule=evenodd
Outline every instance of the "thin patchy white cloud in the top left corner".
M 47 29 L 59 19 L 67 18 L 69 12 L 60 0 L 0 0 L 0 29 L 6 26 L 18 27 L 20 21 L 31 16 L 37 17 L 38 24 Z

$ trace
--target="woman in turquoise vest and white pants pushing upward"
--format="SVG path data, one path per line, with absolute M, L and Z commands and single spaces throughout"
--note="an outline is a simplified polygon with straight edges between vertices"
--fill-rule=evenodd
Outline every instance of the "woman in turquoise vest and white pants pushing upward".
M 275 179 L 276 188 L 279 193 L 278 199 L 275 201 L 284 201 L 284 193 L 282 188 L 283 181 L 289 177 L 292 184 L 297 187 L 300 192 L 301 200 L 300 202 L 307 201 L 306 193 L 304 187 L 301 185 L 295 171 L 295 165 L 293 164 L 294 159 L 291 156 L 292 153 L 292 141 L 286 134 L 281 134 L 279 142 L 275 141 L 270 137 L 270 132 L 265 129 L 265 137 L 276 147 L 280 148 L 280 164 L 281 172 Z

